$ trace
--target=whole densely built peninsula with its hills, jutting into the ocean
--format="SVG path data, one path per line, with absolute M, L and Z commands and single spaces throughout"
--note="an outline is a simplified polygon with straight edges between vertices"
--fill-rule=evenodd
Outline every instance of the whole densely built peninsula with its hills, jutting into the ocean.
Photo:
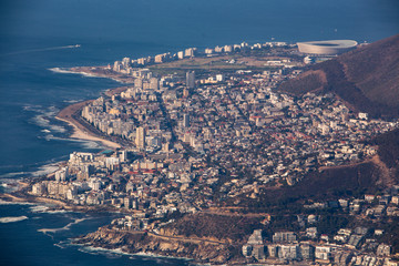
M 58 114 L 71 137 L 112 150 L 71 153 L 1 197 L 125 215 L 82 245 L 213 265 L 397 266 L 399 120 L 369 88 L 399 92 L 391 71 L 361 68 L 398 62 L 398 47 L 399 35 L 336 57 L 243 42 L 58 69 L 125 83 Z

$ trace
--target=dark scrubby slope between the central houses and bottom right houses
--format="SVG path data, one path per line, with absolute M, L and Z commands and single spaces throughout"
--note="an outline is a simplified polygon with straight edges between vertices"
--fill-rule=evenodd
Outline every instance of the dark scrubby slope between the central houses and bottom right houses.
M 350 166 L 330 167 L 308 174 L 295 186 L 265 190 L 259 200 L 243 200 L 253 212 L 272 212 L 279 204 L 291 204 L 305 200 L 331 201 L 339 197 L 361 196 L 376 193 L 383 186 L 380 170 L 372 162 Z

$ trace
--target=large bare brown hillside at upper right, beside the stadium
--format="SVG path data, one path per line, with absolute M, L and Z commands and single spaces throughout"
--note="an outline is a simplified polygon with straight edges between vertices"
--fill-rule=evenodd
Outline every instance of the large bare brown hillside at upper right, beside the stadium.
M 296 95 L 334 92 L 375 117 L 399 117 L 399 34 L 315 64 L 279 89 Z

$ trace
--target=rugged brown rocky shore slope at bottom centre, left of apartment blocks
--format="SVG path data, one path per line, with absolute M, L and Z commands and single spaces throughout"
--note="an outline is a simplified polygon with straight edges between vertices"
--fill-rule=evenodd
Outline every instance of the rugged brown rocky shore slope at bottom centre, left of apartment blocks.
M 237 246 L 218 245 L 206 239 L 177 238 L 149 232 L 116 231 L 110 226 L 100 227 L 73 241 L 74 244 L 121 249 L 129 254 L 156 254 L 165 257 L 192 259 L 193 263 L 212 265 L 244 265 L 248 262 L 235 256 Z

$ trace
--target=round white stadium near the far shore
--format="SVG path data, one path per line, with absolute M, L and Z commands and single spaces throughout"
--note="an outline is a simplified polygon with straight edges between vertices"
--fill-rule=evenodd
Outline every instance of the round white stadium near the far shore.
M 301 53 L 332 55 L 352 50 L 358 43 L 352 40 L 330 40 L 298 42 L 297 44 Z

